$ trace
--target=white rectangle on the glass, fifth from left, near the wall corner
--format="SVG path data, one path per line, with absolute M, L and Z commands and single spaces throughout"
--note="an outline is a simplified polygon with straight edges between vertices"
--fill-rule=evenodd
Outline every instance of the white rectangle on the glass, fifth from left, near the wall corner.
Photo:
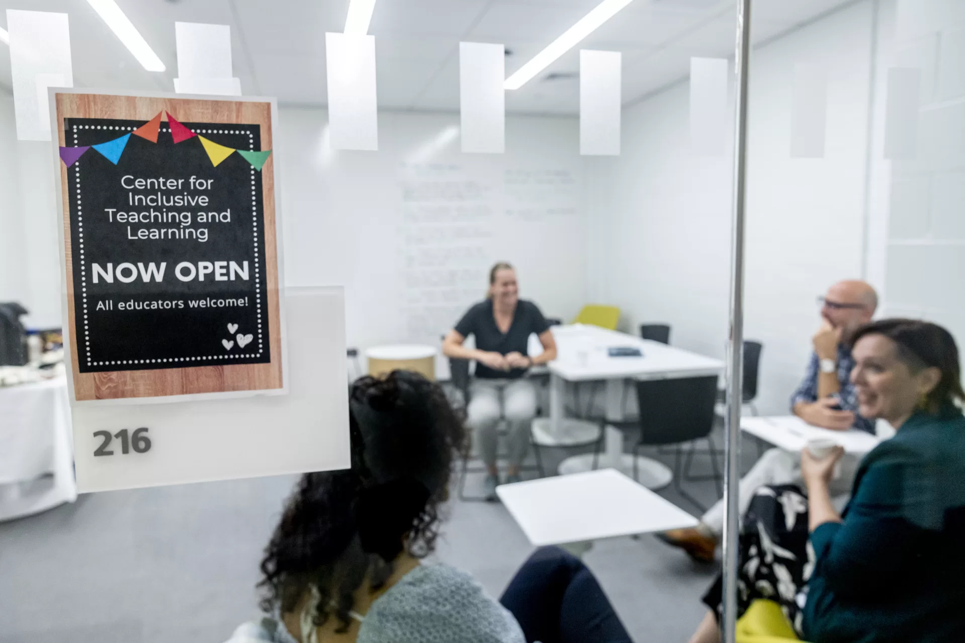
M 620 52 L 580 49 L 580 154 L 620 154 Z

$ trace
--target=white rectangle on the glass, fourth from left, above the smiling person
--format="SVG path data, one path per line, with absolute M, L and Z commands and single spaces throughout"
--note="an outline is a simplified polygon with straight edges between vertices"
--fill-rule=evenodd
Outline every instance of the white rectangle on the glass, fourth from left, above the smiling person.
M 462 151 L 506 149 L 506 51 L 502 44 L 459 42 L 459 125 Z

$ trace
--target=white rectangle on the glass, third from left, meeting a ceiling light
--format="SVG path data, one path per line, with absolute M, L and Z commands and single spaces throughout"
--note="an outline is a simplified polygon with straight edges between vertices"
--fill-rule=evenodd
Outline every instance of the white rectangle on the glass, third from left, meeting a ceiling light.
M 329 141 L 333 150 L 378 150 L 375 39 L 325 34 Z

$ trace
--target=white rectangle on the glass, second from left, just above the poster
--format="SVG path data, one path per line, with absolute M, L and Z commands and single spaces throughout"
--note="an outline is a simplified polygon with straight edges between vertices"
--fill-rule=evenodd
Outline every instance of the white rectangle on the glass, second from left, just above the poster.
M 179 94 L 241 96 L 232 71 L 232 30 L 226 24 L 175 22 Z

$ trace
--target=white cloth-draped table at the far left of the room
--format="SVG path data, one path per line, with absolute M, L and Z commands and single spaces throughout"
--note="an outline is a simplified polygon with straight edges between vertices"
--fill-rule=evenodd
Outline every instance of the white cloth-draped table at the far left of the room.
M 67 379 L 0 388 L 0 418 L 0 520 L 73 502 Z

